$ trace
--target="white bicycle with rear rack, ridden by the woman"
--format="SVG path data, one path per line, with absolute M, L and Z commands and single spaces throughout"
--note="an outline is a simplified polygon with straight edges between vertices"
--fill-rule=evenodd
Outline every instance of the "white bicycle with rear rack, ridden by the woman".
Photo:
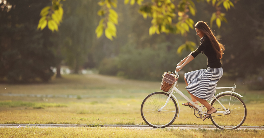
M 175 79 L 180 76 L 175 71 Z M 197 118 L 204 118 L 206 109 L 203 105 L 199 106 L 185 96 L 178 88 L 177 81 L 168 92 L 154 92 L 149 94 L 142 102 L 141 116 L 147 125 L 153 128 L 165 128 L 171 125 L 177 115 L 179 117 L 180 107 L 177 98 L 173 93 L 180 94 L 188 102 L 195 106 L 189 106 L 194 110 L 194 115 Z M 235 85 L 235 83 L 234 83 Z M 178 86 L 178 85 L 177 85 Z M 210 117 L 212 123 L 219 129 L 236 129 L 239 128 L 247 117 L 247 107 L 240 97 L 240 94 L 235 92 L 235 86 L 232 87 L 216 87 L 216 89 L 231 89 L 214 95 L 210 104 L 217 109 L 217 112 Z M 175 92 L 174 92 L 175 91 Z

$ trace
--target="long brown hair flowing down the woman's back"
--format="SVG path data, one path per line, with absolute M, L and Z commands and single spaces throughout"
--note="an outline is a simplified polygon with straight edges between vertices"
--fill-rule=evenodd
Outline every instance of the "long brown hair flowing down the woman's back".
M 194 27 L 202 31 L 204 35 L 206 35 L 209 38 L 213 46 L 213 49 L 215 50 L 216 57 L 222 59 L 222 55 L 224 54 L 225 47 L 221 43 L 219 43 L 219 41 L 215 38 L 215 35 L 213 34 L 209 26 L 206 24 L 206 22 L 198 21 L 194 25 Z

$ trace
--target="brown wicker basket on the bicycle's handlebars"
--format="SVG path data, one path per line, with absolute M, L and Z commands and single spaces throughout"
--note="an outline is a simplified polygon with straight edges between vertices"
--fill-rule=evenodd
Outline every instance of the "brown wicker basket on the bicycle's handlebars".
M 169 74 L 171 73 L 171 74 Z M 166 72 L 162 82 L 161 82 L 161 90 L 167 92 L 175 82 L 175 74 L 173 72 Z

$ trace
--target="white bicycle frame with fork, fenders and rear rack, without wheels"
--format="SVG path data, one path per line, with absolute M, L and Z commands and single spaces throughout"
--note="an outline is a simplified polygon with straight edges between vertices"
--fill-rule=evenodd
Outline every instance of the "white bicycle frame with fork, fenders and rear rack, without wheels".
M 179 75 L 178 75 L 178 72 L 177 72 L 177 71 L 175 71 L 175 75 L 177 76 L 177 78 L 179 78 Z M 186 99 L 188 102 L 190 102 L 192 105 L 194 105 L 197 109 L 199 109 L 198 113 L 200 114 L 200 117 L 201 117 L 201 114 L 202 114 L 202 115 L 205 115 L 207 112 L 203 112 L 203 111 L 202 111 L 204 105 L 201 105 L 201 106 L 196 105 L 196 104 L 195 104 L 196 102 L 192 102 L 191 99 L 189 99 L 186 95 L 184 95 L 179 89 L 177 89 L 177 88 L 175 87 L 176 84 L 177 84 L 177 82 L 174 82 L 172 89 L 169 90 L 169 92 L 168 92 L 169 96 L 168 96 L 168 98 L 167 98 L 167 101 L 166 101 L 165 105 L 163 105 L 160 109 L 158 109 L 158 111 L 161 111 L 161 110 L 167 105 L 167 103 L 169 102 L 170 97 L 172 96 L 172 97 L 176 100 L 176 102 L 177 102 L 177 104 L 178 104 L 178 109 L 179 109 L 179 111 L 178 111 L 178 117 L 179 117 L 179 115 L 180 115 L 180 106 L 179 106 L 179 102 L 178 102 L 177 98 L 173 95 L 173 92 L 176 91 L 176 93 L 180 94 L 184 99 Z M 235 84 L 235 83 L 234 83 L 234 84 Z M 225 110 L 225 111 L 217 111 L 216 113 L 223 113 L 223 114 L 228 114 L 228 113 L 230 113 L 230 111 L 229 111 L 229 107 L 228 107 L 228 109 L 226 109 L 226 108 L 222 105 L 222 103 L 216 98 L 216 97 L 218 97 L 219 95 L 221 95 L 221 94 L 225 94 L 225 93 L 231 93 L 231 95 L 232 95 L 232 94 L 236 94 L 236 95 L 238 95 L 238 96 L 240 96 L 240 97 L 243 97 L 243 96 L 241 96 L 240 94 L 238 94 L 238 93 L 235 92 L 235 88 L 236 88 L 236 85 L 233 86 L 233 87 L 216 87 L 216 88 L 215 88 L 215 89 L 231 89 L 231 91 L 221 92 L 221 93 L 219 93 L 219 94 L 213 96 L 212 100 L 210 101 L 210 104 L 212 103 L 212 101 L 213 101 L 214 99 L 216 99 L 216 100 L 219 102 L 219 104 L 223 107 L 223 109 Z M 231 96 L 230 96 L 230 100 L 231 100 Z M 230 106 L 230 100 L 229 100 L 229 106 Z M 202 119 L 202 118 L 201 118 L 201 119 Z

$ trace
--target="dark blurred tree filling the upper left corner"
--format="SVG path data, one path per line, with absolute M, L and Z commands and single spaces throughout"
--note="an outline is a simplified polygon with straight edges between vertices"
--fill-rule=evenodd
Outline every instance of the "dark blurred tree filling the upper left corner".
M 1 2 L 4 8 L 0 11 L 0 80 L 47 82 L 54 74 L 50 67 L 56 66 L 53 53 L 56 46 L 50 40 L 53 34 L 49 29 L 36 28 L 39 12 L 49 1 Z

